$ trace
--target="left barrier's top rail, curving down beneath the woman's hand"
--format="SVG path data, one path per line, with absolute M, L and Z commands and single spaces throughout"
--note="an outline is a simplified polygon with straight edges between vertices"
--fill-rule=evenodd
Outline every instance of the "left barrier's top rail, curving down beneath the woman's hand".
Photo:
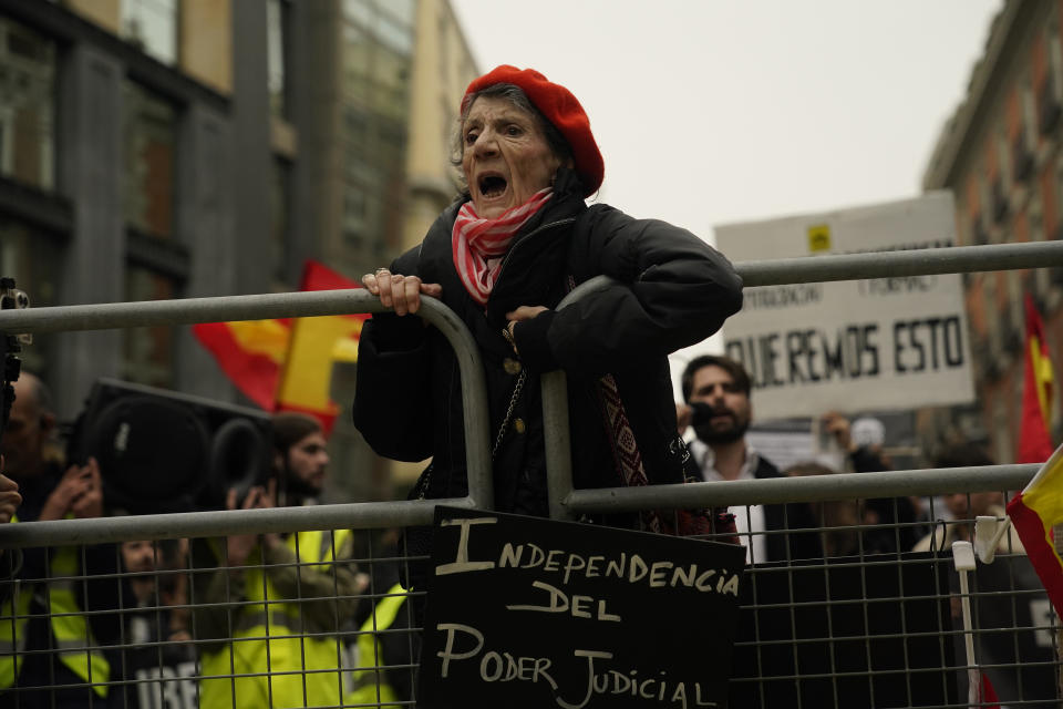
M 0 332 L 41 333 L 157 325 L 264 320 L 355 312 L 388 312 L 362 289 L 109 302 L 0 311 Z M 421 299 L 419 316 L 434 325 L 454 348 L 462 376 L 468 494 L 475 506 L 494 506 L 487 384 L 479 348 L 465 323 L 435 298 Z

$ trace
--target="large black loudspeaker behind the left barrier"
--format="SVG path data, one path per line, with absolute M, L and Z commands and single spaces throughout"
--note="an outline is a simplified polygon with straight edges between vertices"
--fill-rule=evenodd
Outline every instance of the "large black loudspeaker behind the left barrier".
M 131 514 L 225 508 L 265 485 L 269 414 L 165 389 L 100 379 L 79 415 L 68 458 L 100 463 L 104 503 Z

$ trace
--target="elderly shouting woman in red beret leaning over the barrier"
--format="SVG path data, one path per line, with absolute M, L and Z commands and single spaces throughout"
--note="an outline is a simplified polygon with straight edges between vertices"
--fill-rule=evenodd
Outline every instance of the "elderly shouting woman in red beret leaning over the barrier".
M 730 263 L 689 232 L 584 199 L 605 164 L 579 101 L 543 74 L 503 65 L 461 103 L 466 191 L 422 244 L 362 278 L 394 312 L 365 323 L 354 422 L 379 454 L 433 456 L 415 494 L 467 493 L 457 361 L 416 312 L 453 309 L 481 348 L 491 407 L 495 508 L 548 514 L 539 376 L 568 373 L 577 487 L 677 483 L 667 354 L 715 332 L 742 306 Z M 576 285 L 618 282 L 560 310 Z

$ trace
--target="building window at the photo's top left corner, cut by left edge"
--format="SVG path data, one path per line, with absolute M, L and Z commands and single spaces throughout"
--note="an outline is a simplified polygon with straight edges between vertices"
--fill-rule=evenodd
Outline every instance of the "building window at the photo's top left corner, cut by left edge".
M 55 186 L 55 42 L 0 18 L 0 175 Z

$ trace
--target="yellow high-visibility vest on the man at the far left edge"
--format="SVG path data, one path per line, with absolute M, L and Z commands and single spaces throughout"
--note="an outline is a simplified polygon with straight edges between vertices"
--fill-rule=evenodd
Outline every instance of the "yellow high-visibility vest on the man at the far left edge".
M 11 517 L 12 523 L 18 521 L 17 516 Z M 82 681 L 92 684 L 100 697 L 106 697 L 111 666 L 96 646 L 74 594 L 78 552 L 71 546 L 55 549 L 49 568 L 50 577 L 56 579 L 48 582 L 45 596 L 59 659 Z M 23 593 L 20 586 L 17 583 L 11 598 L 0 606 L 0 688 L 14 685 L 19 656 L 25 647 L 25 624 L 33 594 Z

